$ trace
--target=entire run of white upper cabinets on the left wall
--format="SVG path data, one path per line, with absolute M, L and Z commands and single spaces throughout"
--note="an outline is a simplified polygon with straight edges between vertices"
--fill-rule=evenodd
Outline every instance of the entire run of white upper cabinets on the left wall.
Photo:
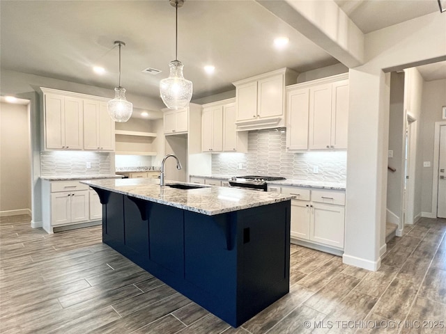
M 114 121 L 107 112 L 107 99 L 40 89 L 44 150 L 114 151 Z

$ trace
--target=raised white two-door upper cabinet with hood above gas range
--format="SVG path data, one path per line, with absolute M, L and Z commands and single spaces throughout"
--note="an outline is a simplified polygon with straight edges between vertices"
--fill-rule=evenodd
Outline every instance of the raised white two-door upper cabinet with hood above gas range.
M 239 131 L 283 127 L 285 85 L 295 82 L 292 70 L 268 72 L 236 81 L 236 125 Z

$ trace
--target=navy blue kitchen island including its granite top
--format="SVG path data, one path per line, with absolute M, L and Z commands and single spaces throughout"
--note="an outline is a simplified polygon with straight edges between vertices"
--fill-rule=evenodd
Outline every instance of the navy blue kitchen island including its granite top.
M 105 244 L 231 326 L 289 292 L 293 196 L 152 179 L 83 183 L 100 197 Z

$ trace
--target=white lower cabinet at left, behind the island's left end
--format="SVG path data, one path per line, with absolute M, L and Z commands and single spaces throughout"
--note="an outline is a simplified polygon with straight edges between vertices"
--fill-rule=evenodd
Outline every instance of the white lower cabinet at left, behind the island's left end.
M 102 205 L 98 194 L 77 181 L 42 182 L 43 228 L 53 228 L 102 219 Z

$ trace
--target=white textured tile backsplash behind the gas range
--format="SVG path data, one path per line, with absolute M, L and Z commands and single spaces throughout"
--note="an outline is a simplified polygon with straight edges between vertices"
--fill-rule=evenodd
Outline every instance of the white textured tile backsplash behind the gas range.
M 346 151 L 286 152 L 286 133 L 268 129 L 249 132 L 247 153 L 213 154 L 212 173 L 345 182 L 346 163 Z

